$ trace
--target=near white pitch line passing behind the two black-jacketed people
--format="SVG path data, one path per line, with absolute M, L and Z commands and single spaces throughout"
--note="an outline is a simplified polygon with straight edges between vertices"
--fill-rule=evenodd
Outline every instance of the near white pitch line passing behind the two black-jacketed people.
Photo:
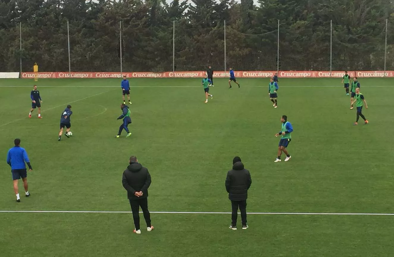
M 0 213 L 132 213 L 131 211 L 1 211 Z M 142 213 L 140 211 L 139 213 Z M 213 211 L 150 211 L 162 214 L 231 214 L 230 212 Z M 238 213 L 239 214 L 239 213 Z M 361 216 L 394 216 L 394 213 L 295 213 L 295 212 L 248 212 L 250 215 L 361 215 Z

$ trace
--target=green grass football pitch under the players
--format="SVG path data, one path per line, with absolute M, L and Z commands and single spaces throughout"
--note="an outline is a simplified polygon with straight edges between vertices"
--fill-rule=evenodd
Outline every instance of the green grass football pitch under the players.
M 128 157 L 152 176 L 151 211 L 229 212 L 224 187 L 239 155 L 252 176 L 248 212 L 394 213 L 393 79 L 359 79 L 368 125 L 341 79 L 280 79 L 279 108 L 267 79 L 215 79 L 204 104 L 200 79 L 132 79 L 133 133 L 120 125 L 120 80 L 42 79 L 42 116 L 28 118 L 33 81 L 0 80 L 0 210 L 129 211 L 121 185 Z M 74 136 L 58 142 L 72 105 Z M 294 127 L 292 159 L 273 163 L 281 115 Z M 125 133 L 125 132 L 123 132 Z M 20 138 L 33 171 L 30 198 L 15 202 L 6 154 Z M 20 184 L 23 195 L 23 187 Z M 154 231 L 131 213 L 0 213 L 0 256 L 392 256 L 394 216 L 152 213 Z M 240 223 L 240 217 L 239 217 Z M 145 224 L 141 215 L 141 228 Z

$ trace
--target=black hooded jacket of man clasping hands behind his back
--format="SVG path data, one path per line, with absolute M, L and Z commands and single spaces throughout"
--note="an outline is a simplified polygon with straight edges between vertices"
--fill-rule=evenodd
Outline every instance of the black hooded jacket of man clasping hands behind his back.
M 147 198 L 148 187 L 151 182 L 151 174 L 149 174 L 148 169 L 142 167 L 138 162 L 131 162 L 127 169 L 123 171 L 122 184 L 127 191 L 127 198 L 130 200 Z M 143 195 L 135 196 L 134 193 L 139 191 L 142 191 Z

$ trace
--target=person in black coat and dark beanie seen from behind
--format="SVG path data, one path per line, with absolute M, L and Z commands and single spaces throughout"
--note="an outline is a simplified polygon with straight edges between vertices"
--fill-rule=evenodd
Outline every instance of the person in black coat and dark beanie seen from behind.
M 238 207 L 241 211 L 242 229 L 247 229 L 246 221 L 246 199 L 247 191 L 252 184 L 252 178 L 247 169 L 244 169 L 241 158 L 238 156 L 232 160 L 232 170 L 227 172 L 226 178 L 226 190 L 229 193 L 229 199 L 231 200 L 231 225 L 230 229 L 237 229 L 237 216 Z

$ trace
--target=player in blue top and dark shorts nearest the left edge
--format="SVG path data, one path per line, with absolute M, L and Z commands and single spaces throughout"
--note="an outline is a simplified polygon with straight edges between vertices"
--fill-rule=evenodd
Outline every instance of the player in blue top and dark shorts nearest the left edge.
M 17 202 L 20 202 L 20 197 L 19 197 L 19 189 L 18 189 L 18 182 L 19 179 L 22 178 L 23 181 L 23 187 L 25 189 L 25 195 L 26 197 L 30 196 L 30 193 L 28 191 L 28 184 L 27 184 L 27 171 L 26 171 L 26 165 L 29 166 L 29 171 L 32 171 L 32 165 L 30 165 L 30 160 L 29 157 L 27 156 L 27 152 L 25 149 L 20 147 L 20 139 L 16 138 L 14 140 L 15 147 L 9 149 L 8 154 L 7 154 L 7 163 L 9 166 L 11 166 L 11 173 L 12 173 L 12 179 L 14 182 L 14 192 L 15 195 L 17 196 Z

